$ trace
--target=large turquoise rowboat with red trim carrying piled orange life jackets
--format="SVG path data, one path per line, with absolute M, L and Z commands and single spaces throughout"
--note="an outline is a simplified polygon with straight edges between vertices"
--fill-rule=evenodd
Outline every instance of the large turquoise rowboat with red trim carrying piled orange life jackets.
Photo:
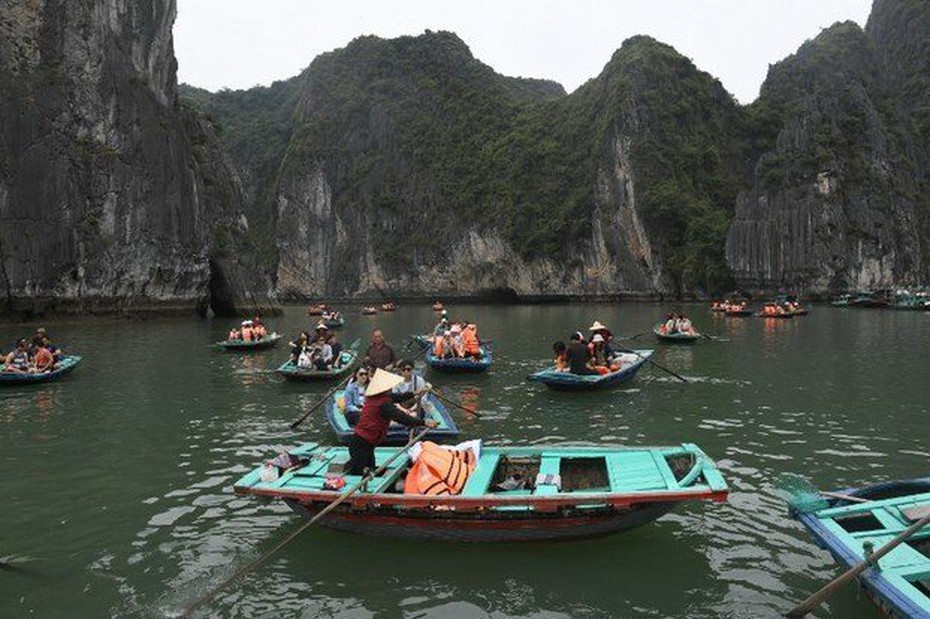
M 396 453 L 378 448 L 378 465 Z M 346 447 L 302 445 L 302 464 L 261 481 L 259 467 L 236 482 L 237 494 L 283 500 L 311 518 L 361 481 L 324 490 L 341 475 Z M 402 494 L 409 467 L 400 457 L 363 490 L 333 509 L 320 526 L 402 539 L 462 542 L 567 540 L 611 535 L 652 522 L 682 501 L 727 499 L 727 484 L 696 445 L 672 447 L 484 447 L 459 495 Z M 523 480 L 505 490 L 505 480 Z M 510 484 L 511 486 L 514 484 Z

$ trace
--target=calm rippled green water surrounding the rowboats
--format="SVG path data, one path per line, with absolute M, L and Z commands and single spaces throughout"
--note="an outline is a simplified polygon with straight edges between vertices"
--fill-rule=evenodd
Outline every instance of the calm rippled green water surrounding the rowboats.
M 380 326 L 392 342 L 435 322 L 425 306 L 362 317 L 342 308 L 343 341 Z M 463 437 L 494 443 L 698 443 L 731 487 L 725 505 L 682 506 L 657 523 L 584 542 L 467 546 L 309 530 L 222 594 L 217 616 L 774 617 L 838 574 L 789 520 L 782 471 L 837 487 L 927 475 L 930 313 L 817 307 L 769 323 L 715 317 L 726 341 L 659 346 L 657 370 L 625 389 L 559 394 L 526 382 L 551 342 L 595 318 L 647 330 L 658 305 L 450 308 L 495 340 L 487 376 L 432 376 L 482 411 Z M 270 326 L 311 324 L 290 308 Z M 160 616 L 203 594 L 299 525 L 284 507 L 235 497 L 263 457 L 332 437 L 322 413 L 290 421 L 325 386 L 267 370 L 286 347 L 251 355 L 210 342 L 225 320 L 50 322 L 85 356 L 64 380 L 0 390 L 0 616 Z M 31 330 L 0 326 L 0 341 Z M 653 347 L 651 335 L 640 338 Z M 820 617 L 873 617 L 853 587 Z

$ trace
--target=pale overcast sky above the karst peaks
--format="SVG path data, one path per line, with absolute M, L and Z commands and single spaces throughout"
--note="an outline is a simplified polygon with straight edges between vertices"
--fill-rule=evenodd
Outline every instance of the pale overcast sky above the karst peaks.
M 451 30 L 498 73 L 571 92 L 627 38 L 648 34 L 749 103 L 768 65 L 834 22 L 865 25 L 872 0 L 178 0 L 178 80 L 267 85 L 364 34 Z

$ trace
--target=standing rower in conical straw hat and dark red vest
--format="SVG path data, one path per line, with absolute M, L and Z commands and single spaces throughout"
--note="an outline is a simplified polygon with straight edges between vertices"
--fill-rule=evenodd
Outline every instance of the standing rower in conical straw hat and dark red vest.
M 365 389 L 365 405 L 349 442 L 349 463 L 346 467 L 349 475 L 364 475 L 375 468 L 375 447 L 384 442 L 392 421 L 408 428 L 435 428 L 439 425 L 432 419 L 418 419 L 406 408 L 396 404 L 409 398 L 406 393 L 391 393 L 391 389 L 403 381 L 403 377 L 397 374 L 381 368 L 375 370 Z M 425 393 L 426 390 L 421 390 L 414 393 L 413 397 L 419 400 Z

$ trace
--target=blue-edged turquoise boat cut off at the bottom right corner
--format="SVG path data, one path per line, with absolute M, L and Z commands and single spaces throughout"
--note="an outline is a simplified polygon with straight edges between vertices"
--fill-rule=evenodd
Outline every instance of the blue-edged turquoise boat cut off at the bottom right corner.
M 853 567 L 865 559 L 866 547 L 878 550 L 930 514 L 930 477 L 846 489 L 831 497 L 837 498 L 822 499 L 820 509 L 805 513 L 792 505 L 791 513 L 838 563 Z M 930 619 L 930 526 L 858 580 L 887 616 Z

